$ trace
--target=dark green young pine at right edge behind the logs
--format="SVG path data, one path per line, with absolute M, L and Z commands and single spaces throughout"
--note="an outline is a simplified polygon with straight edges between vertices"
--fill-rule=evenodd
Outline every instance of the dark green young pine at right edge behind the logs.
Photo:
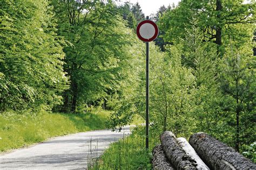
M 221 65 L 221 89 L 228 104 L 226 111 L 230 113 L 231 125 L 235 127 L 235 148 L 238 151 L 240 144 L 248 145 L 248 141 L 254 140 L 250 133 L 255 131 L 255 69 L 250 63 L 255 64 L 252 54 L 231 46 Z

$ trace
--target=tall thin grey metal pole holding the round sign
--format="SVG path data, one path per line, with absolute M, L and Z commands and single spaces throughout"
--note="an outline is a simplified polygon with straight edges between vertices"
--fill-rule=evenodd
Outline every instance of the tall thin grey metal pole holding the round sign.
M 149 16 L 146 17 L 149 19 Z M 149 42 L 146 42 L 146 150 L 149 149 Z

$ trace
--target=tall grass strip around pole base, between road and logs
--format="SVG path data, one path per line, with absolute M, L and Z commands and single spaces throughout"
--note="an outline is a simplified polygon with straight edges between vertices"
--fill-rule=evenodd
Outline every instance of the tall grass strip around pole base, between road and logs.
M 129 137 L 110 145 L 89 169 L 152 169 L 152 148 L 158 139 L 152 139 L 145 150 L 144 128 L 136 128 Z

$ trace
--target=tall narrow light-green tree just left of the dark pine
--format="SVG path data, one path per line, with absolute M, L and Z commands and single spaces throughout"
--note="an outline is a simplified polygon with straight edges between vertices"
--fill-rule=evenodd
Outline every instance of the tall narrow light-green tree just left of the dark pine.
M 189 116 L 194 118 L 191 131 L 204 131 L 229 143 L 232 133 L 228 132 L 230 127 L 226 126 L 220 106 L 217 47 L 213 42 L 203 41 L 205 37 L 200 32 L 197 20 L 192 18 L 190 24 L 191 29 L 186 29 L 185 38 L 180 43 L 181 63 L 191 68 L 195 77 L 195 89 L 190 94 L 192 109 Z

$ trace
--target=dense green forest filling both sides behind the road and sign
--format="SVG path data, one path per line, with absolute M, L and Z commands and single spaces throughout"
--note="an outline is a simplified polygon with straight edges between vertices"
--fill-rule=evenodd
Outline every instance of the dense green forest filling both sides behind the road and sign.
M 151 132 L 204 131 L 242 152 L 255 141 L 255 9 L 242 0 L 181 1 L 150 16 Z M 113 110 L 111 128 L 145 117 L 139 4 L 0 2 L 0 114 Z

